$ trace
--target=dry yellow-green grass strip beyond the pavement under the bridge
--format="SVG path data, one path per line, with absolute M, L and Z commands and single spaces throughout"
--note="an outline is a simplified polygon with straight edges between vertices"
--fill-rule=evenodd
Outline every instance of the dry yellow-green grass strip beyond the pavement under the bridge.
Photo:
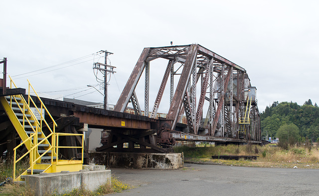
M 250 151 L 250 148 L 252 149 Z M 254 150 L 253 150 L 254 149 Z M 212 162 L 223 165 L 248 167 L 277 167 L 277 168 L 313 168 L 319 169 L 318 148 L 309 150 L 307 147 L 290 147 L 288 150 L 280 147 L 267 146 L 215 146 L 209 148 L 178 147 L 175 152 L 184 152 L 185 160 L 192 162 Z M 213 160 L 212 155 L 248 155 L 259 156 L 257 160 Z

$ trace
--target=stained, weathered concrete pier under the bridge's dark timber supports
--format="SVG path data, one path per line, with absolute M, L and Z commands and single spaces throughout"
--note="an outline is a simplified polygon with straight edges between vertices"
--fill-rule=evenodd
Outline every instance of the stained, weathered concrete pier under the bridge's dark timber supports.
M 90 160 L 107 167 L 135 169 L 177 169 L 183 166 L 181 153 L 101 153 L 91 152 Z

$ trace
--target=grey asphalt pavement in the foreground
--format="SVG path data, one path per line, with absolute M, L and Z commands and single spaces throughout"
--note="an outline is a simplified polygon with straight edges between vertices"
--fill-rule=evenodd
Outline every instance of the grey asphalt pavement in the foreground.
M 319 196 L 319 170 L 185 164 L 178 170 L 112 168 L 134 186 L 119 196 Z

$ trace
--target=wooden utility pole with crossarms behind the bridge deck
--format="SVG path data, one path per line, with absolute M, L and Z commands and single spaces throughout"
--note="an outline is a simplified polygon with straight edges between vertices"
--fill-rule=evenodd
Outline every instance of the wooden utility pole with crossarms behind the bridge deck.
M 104 104 L 103 104 L 103 109 L 107 110 L 108 109 L 108 80 L 107 80 L 107 75 L 108 72 L 110 73 L 116 73 L 116 71 L 113 71 L 114 66 L 108 65 L 108 55 L 109 54 L 113 54 L 112 52 L 108 52 L 107 50 L 101 50 L 100 52 L 104 52 L 105 55 L 105 59 L 104 59 L 104 64 L 103 63 L 94 63 L 94 67 L 93 69 L 98 69 L 101 71 L 104 71 Z M 104 66 L 104 68 L 102 68 L 101 66 Z M 108 69 L 109 68 L 109 69 Z

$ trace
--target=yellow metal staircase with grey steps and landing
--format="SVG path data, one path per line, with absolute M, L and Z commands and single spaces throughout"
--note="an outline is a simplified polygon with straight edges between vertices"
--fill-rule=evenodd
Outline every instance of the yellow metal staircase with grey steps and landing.
M 10 77 L 10 88 L 12 88 L 12 85 L 17 88 Z M 40 104 L 35 104 L 30 96 L 30 90 L 36 95 Z M 32 175 L 35 173 L 54 173 L 61 171 L 74 172 L 82 169 L 84 150 L 83 134 L 55 133 L 57 124 L 29 81 L 27 101 L 22 95 L 13 95 L 0 97 L 0 102 L 22 140 L 22 142 L 13 149 L 14 181 L 23 181 L 25 175 Z M 45 119 L 45 113 L 48 116 L 47 119 Z M 49 134 L 46 136 L 43 133 L 43 130 L 46 130 Z M 82 146 L 59 146 L 59 136 L 82 136 Z M 16 150 L 22 145 L 26 147 L 28 152 L 16 159 Z M 82 160 L 59 160 L 59 148 L 81 148 Z M 30 167 L 22 174 L 17 174 L 17 171 L 15 171 L 16 163 L 25 159 L 27 156 L 29 157 Z M 16 178 L 16 176 L 18 177 Z

